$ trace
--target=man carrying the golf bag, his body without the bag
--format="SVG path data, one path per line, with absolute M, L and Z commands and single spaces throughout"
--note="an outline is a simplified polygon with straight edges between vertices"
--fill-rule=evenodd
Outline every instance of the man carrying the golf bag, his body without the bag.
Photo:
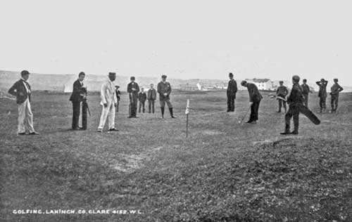
M 292 77 L 292 83 L 294 84 L 291 89 L 291 93 L 287 98 L 287 103 L 289 103 L 289 112 L 285 115 L 285 131 L 281 133 L 285 134 L 298 134 L 299 125 L 299 112 L 303 108 L 303 90 L 299 85 L 299 77 L 294 75 Z M 294 117 L 294 131 L 290 132 L 290 122 L 291 118 Z

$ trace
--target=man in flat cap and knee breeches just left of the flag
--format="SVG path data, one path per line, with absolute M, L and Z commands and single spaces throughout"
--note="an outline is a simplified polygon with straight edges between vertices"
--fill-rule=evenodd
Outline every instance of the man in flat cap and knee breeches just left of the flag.
M 171 118 L 176 118 L 173 115 L 172 104 L 170 102 L 171 85 L 166 81 L 167 76 L 163 74 L 161 81 L 158 83 L 158 93 L 161 107 L 161 118 L 164 118 L 165 103 L 168 104 Z

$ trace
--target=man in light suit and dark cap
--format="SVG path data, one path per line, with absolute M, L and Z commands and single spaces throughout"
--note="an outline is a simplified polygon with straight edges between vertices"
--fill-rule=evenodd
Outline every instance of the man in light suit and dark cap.
M 113 81 L 116 79 L 115 72 L 109 72 L 109 79 L 101 86 L 100 97 L 101 97 L 101 105 L 103 106 L 103 111 L 101 112 L 100 123 L 98 126 L 98 131 L 102 132 L 106 117 L 108 117 L 109 131 L 118 131 L 115 129 L 115 107 L 118 105 L 118 99 L 115 95 L 115 85 Z

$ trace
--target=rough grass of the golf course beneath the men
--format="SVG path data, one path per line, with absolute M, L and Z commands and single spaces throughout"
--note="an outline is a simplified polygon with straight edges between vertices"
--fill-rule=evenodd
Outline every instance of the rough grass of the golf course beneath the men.
M 34 93 L 39 136 L 16 136 L 13 100 L 1 99 L 0 218 L 3 221 L 352 221 L 351 93 L 320 126 L 300 117 L 299 136 L 280 136 L 284 115 L 268 93 L 259 124 L 239 125 L 248 95 L 227 113 L 225 92 L 175 93 L 177 119 L 127 119 L 97 133 L 101 106 L 90 95 L 89 130 L 68 131 L 63 94 Z M 189 138 L 184 109 L 191 101 Z M 328 101 L 329 102 L 329 101 Z M 310 108 L 318 109 L 316 95 Z M 142 209 L 144 214 L 12 214 L 13 209 Z

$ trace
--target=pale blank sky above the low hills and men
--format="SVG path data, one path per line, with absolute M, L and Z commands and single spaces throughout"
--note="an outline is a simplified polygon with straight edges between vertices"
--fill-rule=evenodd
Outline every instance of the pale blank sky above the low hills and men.
M 348 1 L 0 0 L 0 70 L 352 86 Z

